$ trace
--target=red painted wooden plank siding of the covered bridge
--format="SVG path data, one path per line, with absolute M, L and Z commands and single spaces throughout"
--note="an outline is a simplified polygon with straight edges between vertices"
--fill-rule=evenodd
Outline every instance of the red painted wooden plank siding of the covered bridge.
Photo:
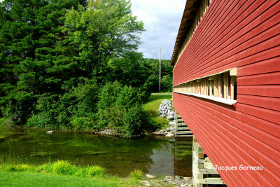
M 237 105 L 174 92 L 176 110 L 228 186 L 280 186 L 280 1 L 211 2 L 174 68 L 174 85 L 237 67 Z

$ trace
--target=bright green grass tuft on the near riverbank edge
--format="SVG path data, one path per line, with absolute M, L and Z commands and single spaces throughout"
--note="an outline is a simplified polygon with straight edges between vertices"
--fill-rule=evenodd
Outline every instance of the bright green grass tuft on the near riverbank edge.
M 55 174 L 73 174 L 77 168 L 66 160 L 58 160 L 53 164 L 53 172 Z

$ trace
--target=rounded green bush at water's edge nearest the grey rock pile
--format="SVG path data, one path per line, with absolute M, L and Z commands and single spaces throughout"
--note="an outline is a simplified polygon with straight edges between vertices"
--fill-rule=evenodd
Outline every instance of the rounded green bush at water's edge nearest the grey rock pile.
M 151 126 L 148 114 L 139 104 L 128 109 L 123 116 L 124 137 L 143 137 L 145 130 Z

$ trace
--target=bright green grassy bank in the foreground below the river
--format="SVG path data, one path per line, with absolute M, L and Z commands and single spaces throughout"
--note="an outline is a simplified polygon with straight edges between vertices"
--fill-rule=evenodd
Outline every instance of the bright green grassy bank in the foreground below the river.
M 0 186 L 134 186 L 143 174 L 130 179 L 109 176 L 99 166 L 78 167 L 67 161 L 44 165 L 0 165 Z M 141 173 L 141 172 L 140 172 Z

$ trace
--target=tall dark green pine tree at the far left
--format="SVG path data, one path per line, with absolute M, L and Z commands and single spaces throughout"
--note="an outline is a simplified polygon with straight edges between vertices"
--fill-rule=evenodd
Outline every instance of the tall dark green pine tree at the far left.
M 59 58 L 55 48 L 64 37 L 64 15 L 78 4 L 85 0 L 6 0 L 0 4 L 0 107 L 5 116 L 17 116 L 18 123 L 25 123 L 37 95 L 61 90 L 60 74 L 49 68 Z

